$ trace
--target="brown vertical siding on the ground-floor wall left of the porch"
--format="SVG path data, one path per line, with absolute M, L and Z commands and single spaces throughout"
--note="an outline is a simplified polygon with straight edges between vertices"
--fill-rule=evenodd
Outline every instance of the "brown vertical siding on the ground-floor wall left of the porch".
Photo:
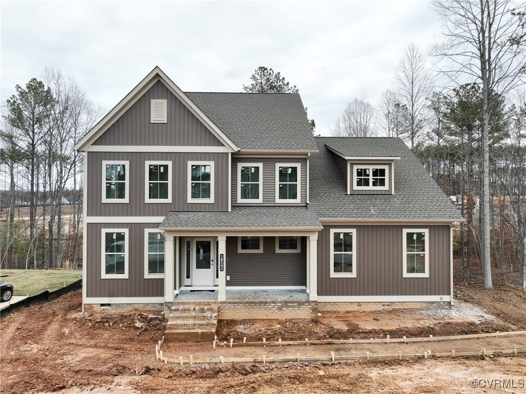
M 89 297 L 163 297 L 164 279 L 144 278 L 144 229 L 160 223 L 88 223 L 86 256 L 86 296 Z M 103 228 L 128 229 L 128 279 L 101 279 Z

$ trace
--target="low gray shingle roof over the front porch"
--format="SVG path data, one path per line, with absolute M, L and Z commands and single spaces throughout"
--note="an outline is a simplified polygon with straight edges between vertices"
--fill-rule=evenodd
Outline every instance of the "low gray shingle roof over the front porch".
M 308 207 L 246 206 L 225 211 L 169 211 L 160 228 L 321 228 L 318 214 Z

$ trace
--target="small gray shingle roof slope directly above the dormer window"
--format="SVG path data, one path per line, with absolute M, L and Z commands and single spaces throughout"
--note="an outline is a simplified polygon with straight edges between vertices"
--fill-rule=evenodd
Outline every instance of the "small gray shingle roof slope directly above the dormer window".
M 325 145 L 344 156 L 399 156 L 393 153 L 392 138 L 327 138 Z

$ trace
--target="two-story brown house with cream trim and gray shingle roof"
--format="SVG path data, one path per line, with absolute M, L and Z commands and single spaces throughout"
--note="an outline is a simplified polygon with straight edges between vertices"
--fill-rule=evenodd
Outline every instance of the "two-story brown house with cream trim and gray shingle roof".
M 447 196 L 399 138 L 313 137 L 304 108 L 154 68 L 76 146 L 83 305 L 279 289 L 320 309 L 449 306 Z

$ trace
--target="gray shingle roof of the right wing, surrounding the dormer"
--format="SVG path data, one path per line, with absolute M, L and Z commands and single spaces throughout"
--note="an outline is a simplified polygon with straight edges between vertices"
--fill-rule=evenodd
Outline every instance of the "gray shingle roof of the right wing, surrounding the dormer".
M 319 153 L 310 163 L 310 202 L 320 218 L 461 220 L 459 211 L 429 176 L 400 138 L 315 138 Z M 396 160 L 395 195 L 347 195 L 335 153 L 326 147 L 356 152 L 357 147 L 372 156 L 401 156 Z M 370 146 L 370 147 L 368 147 Z M 337 149 L 337 150 L 339 150 Z M 355 154 L 353 154 L 354 156 Z

